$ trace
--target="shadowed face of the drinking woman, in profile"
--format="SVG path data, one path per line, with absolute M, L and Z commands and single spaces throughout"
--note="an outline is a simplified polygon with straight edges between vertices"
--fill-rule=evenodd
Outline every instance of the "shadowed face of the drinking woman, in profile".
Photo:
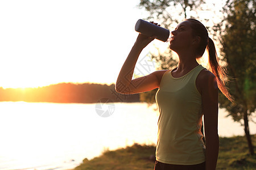
M 172 39 L 170 41 L 170 49 L 179 53 L 182 50 L 188 50 L 193 42 L 192 28 L 188 20 L 181 22 L 172 31 Z

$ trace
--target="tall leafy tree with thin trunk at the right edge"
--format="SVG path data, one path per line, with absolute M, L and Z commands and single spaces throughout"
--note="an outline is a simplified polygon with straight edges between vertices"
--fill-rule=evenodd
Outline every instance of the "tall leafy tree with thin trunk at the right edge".
M 250 154 L 254 154 L 249 131 L 249 117 L 255 112 L 256 103 L 256 32 L 255 0 L 227 1 L 224 20 L 218 24 L 221 52 L 227 63 L 227 84 L 235 103 L 220 95 L 220 107 L 229 112 L 234 121 L 243 119 L 243 125 Z

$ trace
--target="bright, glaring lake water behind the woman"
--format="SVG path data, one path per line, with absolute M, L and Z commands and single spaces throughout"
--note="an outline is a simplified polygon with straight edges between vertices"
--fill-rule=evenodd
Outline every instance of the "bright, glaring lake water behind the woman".
M 0 102 L 0 108 L 1 170 L 71 169 L 105 150 L 156 142 L 156 105 L 19 101 Z M 219 135 L 243 135 L 243 127 L 226 114 L 219 109 Z M 256 125 L 249 126 L 255 134 Z

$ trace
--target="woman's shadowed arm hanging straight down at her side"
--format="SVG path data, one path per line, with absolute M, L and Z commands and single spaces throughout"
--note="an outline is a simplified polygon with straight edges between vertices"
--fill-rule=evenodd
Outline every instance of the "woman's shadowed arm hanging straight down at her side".
M 205 163 L 206 170 L 216 169 L 218 159 L 218 87 L 216 77 L 210 71 L 199 74 L 205 129 Z

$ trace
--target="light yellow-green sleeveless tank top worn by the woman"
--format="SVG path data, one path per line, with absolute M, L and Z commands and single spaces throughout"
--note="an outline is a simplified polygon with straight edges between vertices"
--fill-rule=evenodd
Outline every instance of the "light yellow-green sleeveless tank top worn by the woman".
M 164 73 L 156 104 L 160 112 L 156 160 L 167 164 L 193 165 L 205 161 L 201 95 L 196 78 L 204 67 L 174 78 L 171 70 Z

